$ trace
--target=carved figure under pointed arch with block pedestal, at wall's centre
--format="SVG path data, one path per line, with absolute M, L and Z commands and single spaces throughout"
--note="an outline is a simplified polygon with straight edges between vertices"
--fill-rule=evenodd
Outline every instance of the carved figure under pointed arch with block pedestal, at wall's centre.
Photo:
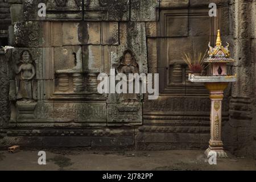
M 129 73 L 139 74 L 139 65 L 135 58 L 134 52 L 126 49 L 121 56 L 119 63 L 113 65 L 115 72 L 123 73 L 128 78 Z M 121 78 L 122 79 L 122 78 Z M 133 80 L 127 80 L 127 85 Z M 116 82 L 117 84 L 117 82 Z M 115 85 L 116 85 L 115 84 Z M 128 92 L 128 86 L 127 86 Z M 142 125 L 142 102 L 141 94 L 138 93 L 121 93 L 115 97 L 116 103 L 107 105 L 108 126 L 134 126 Z M 111 97 L 111 96 L 110 96 Z

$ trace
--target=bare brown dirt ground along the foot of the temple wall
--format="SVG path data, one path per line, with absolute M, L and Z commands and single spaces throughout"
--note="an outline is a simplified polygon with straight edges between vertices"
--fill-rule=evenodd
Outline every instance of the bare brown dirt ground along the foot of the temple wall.
M 38 164 L 38 150 L 0 151 L 0 170 L 256 170 L 255 159 L 229 153 L 210 165 L 203 150 L 44 151 L 46 165 Z

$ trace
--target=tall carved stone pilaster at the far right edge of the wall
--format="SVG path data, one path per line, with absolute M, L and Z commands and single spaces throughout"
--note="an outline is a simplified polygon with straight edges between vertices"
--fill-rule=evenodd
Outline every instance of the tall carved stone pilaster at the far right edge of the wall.
M 253 13 L 255 2 L 236 0 L 232 3 L 232 30 L 234 36 L 234 55 L 237 64 L 232 67 L 232 72 L 237 73 L 237 82 L 232 83 L 232 97 L 229 105 L 229 133 L 233 138 L 226 136 L 231 150 L 240 152 L 240 148 L 251 145 L 252 120 L 251 98 L 253 98 L 254 68 L 251 50 L 253 43 Z M 254 82 L 253 82 L 254 81 Z M 230 127 L 231 126 L 231 127 Z M 243 136 L 243 137 L 237 137 Z M 243 151 L 241 151 L 243 152 Z

